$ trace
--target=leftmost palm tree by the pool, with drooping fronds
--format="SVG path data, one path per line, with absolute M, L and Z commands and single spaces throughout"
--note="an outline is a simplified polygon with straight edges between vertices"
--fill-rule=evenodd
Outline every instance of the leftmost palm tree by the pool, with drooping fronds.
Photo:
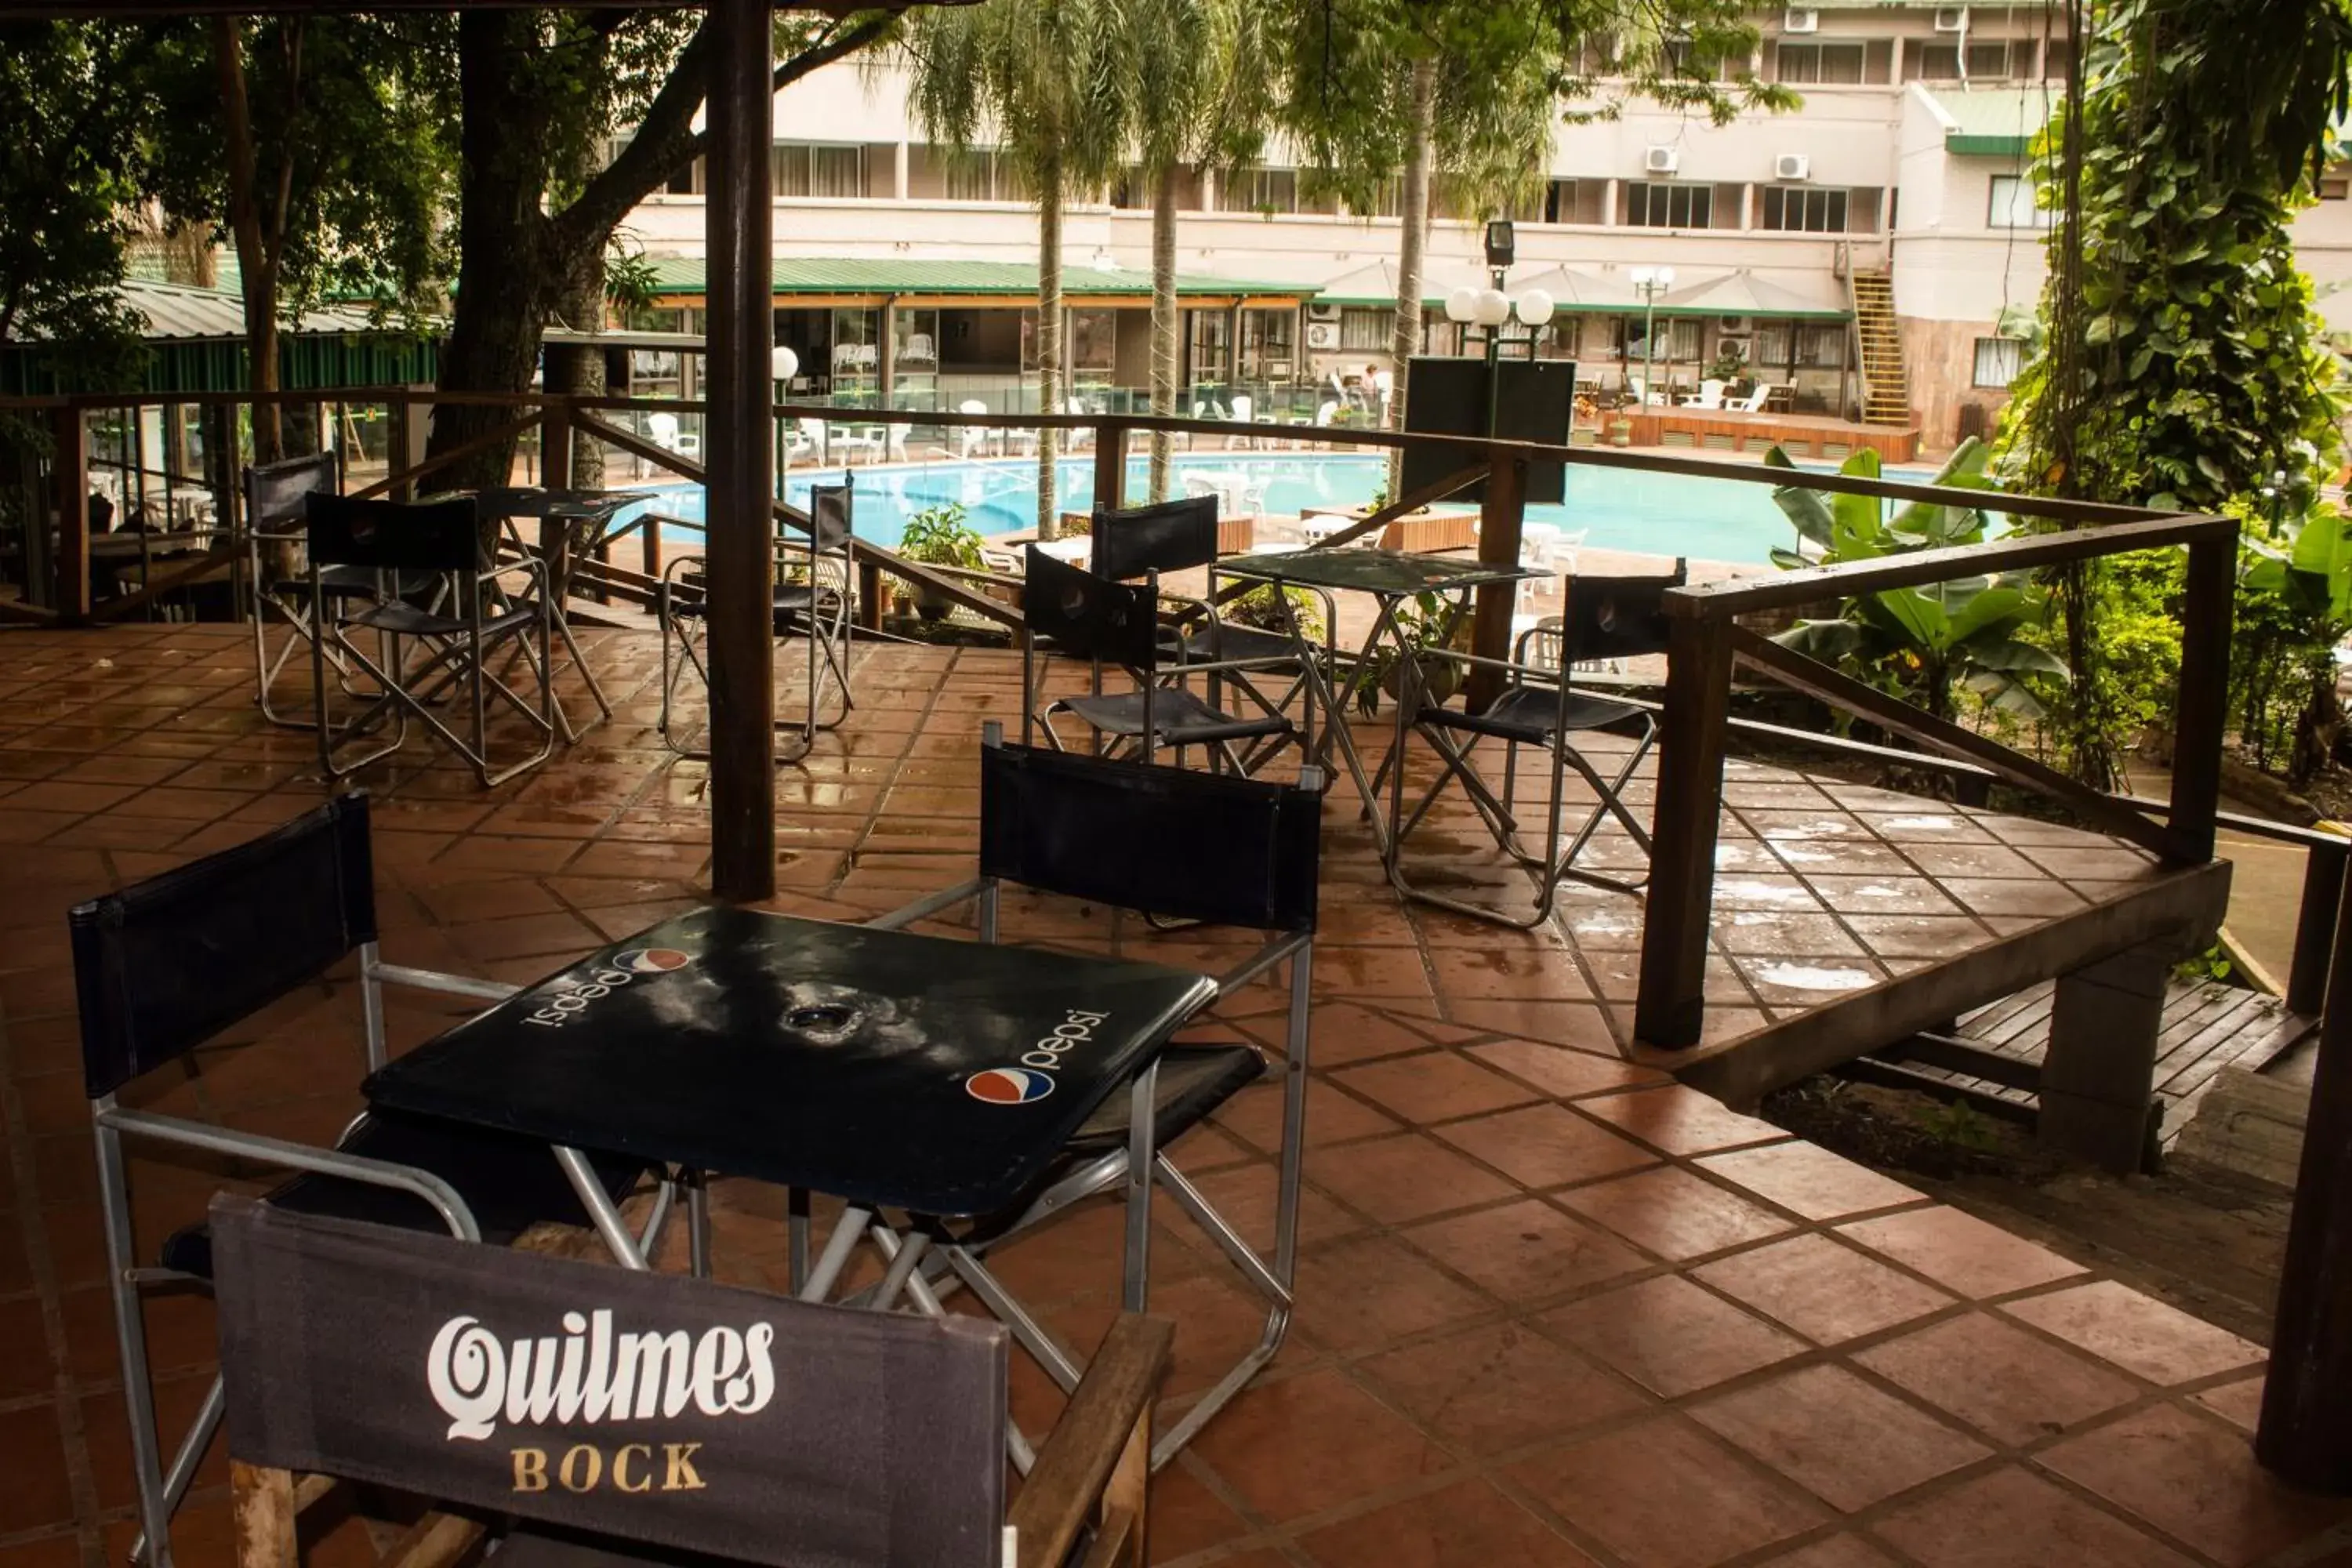
M 1127 150 L 1129 14 L 1115 0 L 990 0 L 915 16 L 915 120 L 955 153 L 995 148 L 1037 202 L 1037 381 L 1061 411 L 1061 212 L 1103 186 Z M 1037 534 L 1061 534 L 1056 442 L 1037 442 Z

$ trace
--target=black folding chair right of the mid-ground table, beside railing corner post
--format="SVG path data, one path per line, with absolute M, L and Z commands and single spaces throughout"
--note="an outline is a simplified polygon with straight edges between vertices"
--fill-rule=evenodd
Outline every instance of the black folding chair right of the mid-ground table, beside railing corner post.
M 1684 562 L 1679 559 L 1670 576 L 1571 576 L 1564 585 L 1562 623 L 1557 628 L 1522 632 L 1508 663 L 1477 658 L 1475 654 L 1432 651 L 1437 658 L 1451 658 L 1463 665 L 1503 670 L 1508 684 L 1486 710 L 1470 712 L 1468 705 L 1446 708 L 1430 703 L 1423 696 L 1425 682 L 1409 682 L 1416 698 L 1421 698 L 1409 715 L 1411 724 L 1437 752 L 1439 771 L 1409 816 L 1402 809 L 1404 769 L 1397 766 L 1392 773 L 1392 820 L 1397 820 L 1397 837 L 1390 877 L 1406 898 L 1505 926 L 1534 929 L 1550 917 L 1562 879 L 1573 877 L 1576 882 L 1621 893 L 1642 891 L 1649 882 L 1646 872 L 1642 877 L 1613 877 L 1609 872 L 1583 870 L 1576 865 L 1576 856 L 1585 851 L 1592 835 L 1609 818 L 1616 818 L 1639 851 L 1649 856 L 1649 825 L 1625 806 L 1625 785 L 1632 783 L 1651 745 L 1658 741 L 1658 717 L 1646 703 L 1578 691 L 1576 675 L 1578 665 L 1663 654 L 1668 637 L 1665 592 L 1682 588 L 1682 583 Z M 1557 654 L 1531 663 L 1529 649 L 1538 639 L 1557 642 Z M 1578 736 L 1595 731 L 1625 736 L 1635 743 L 1613 773 L 1604 776 L 1576 745 Z M 1494 790 L 1472 759 L 1479 741 L 1503 743 L 1501 792 Z M 1545 780 L 1550 788 L 1541 806 L 1545 818 L 1541 851 L 1531 851 L 1519 832 L 1517 780 L 1522 745 L 1536 748 L 1550 764 Z M 1571 771 L 1592 790 L 1595 804 L 1576 832 L 1562 842 L 1566 778 Z M 1454 898 L 1451 893 L 1414 886 L 1406 877 L 1404 842 L 1454 778 L 1461 780 L 1472 809 L 1503 853 L 1536 877 L 1536 907 L 1531 914 L 1519 917 L 1491 905 Z

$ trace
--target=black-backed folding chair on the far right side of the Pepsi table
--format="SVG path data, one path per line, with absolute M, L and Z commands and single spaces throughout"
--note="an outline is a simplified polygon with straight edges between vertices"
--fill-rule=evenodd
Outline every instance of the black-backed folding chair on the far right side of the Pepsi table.
M 1124 1300 L 1148 1305 L 1143 1234 L 1152 1187 L 1164 1187 L 1225 1253 L 1265 1302 L 1258 1342 L 1185 1410 L 1152 1448 L 1167 1465 L 1258 1368 L 1275 1359 L 1289 1331 L 1298 1258 L 1298 1178 L 1305 1157 L 1308 1034 L 1312 1009 L 1317 877 L 1322 867 L 1322 778 L 1305 769 L 1296 785 L 1110 762 L 1033 745 L 1004 745 L 997 724 L 981 743 L 981 875 L 875 922 L 908 926 L 964 900 L 978 903 L 978 938 L 997 940 L 1000 889 L 1011 882 L 1098 905 L 1150 910 L 1181 919 L 1251 926 L 1265 945 L 1225 976 L 1221 990 L 1289 964 L 1289 1032 L 1282 1046 L 1282 1157 L 1275 1178 L 1275 1251 L 1265 1258 L 1167 1157 L 1169 1143 L 1265 1074 L 1265 1058 L 1244 1044 L 1169 1046 L 1143 1093 L 1112 1095 L 1065 1145 L 1061 1161 L 1030 1197 L 1000 1215 L 938 1225 L 922 1281 L 953 1274 L 1014 1331 L 1063 1389 L 1080 1380 L 1077 1361 L 988 1269 L 985 1253 L 1058 1220 L 1087 1199 L 1127 1192 Z M 1141 1079 L 1138 1079 L 1141 1081 Z M 1136 1145 L 1136 1105 L 1150 1114 Z M 1150 1150 L 1152 1180 L 1136 1180 L 1134 1147 Z M 877 1244 L 894 1255 L 887 1232 Z M 936 1295 L 910 1293 L 924 1312 Z

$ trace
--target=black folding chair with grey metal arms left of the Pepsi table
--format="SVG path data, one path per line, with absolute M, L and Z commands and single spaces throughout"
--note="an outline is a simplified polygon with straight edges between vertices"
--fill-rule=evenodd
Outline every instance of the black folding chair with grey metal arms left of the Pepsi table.
M 376 952 L 367 795 L 343 795 L 249 844 L 223 849 L 136 886 L 78 905 L 71 919 L 73 980 L 82 1013 L 82 1079 L 99 1145 L 99 1215 L 122 1354 L 122 1403 L 132 1429 L 141 1537 L 134 1559 L 169 1568 L 169 1521 L 221 1420 L 221 1382 L 181 1439 L 169 1467 L 155 1429 L 143 1298 L 155 1288 L 209 1288 L 214 1237 L 174 1232 L 148 1265 L 132 1234 L 125 1140 L 294 1171 L 266 1204 L 409 1229 L 447 1229 L 506 1244 L 548 1220 L 586 1225 L 588 1213 L 548 1159 L 546 1145 L 421 1117 L 362 1114 L 336 1147 L 240 1133 L 209 1121 L 132 1110 L 118 1093 L 174 1067 L 205 1041 L 289 997 L 358 954 L 367 1067 L 386 1060 L 383 985 L 412 985 L 499 1001 L 513 985 L 386 964 Z M 626 1192 L 644 1166 L 600 1159 L 597 1178 Z M 659 1234 L 670 1190 L 647 1222 Z

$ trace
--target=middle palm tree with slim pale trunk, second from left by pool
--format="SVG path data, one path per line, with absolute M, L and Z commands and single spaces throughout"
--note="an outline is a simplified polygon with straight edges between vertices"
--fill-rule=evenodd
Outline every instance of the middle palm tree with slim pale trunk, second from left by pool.
M 1268 0 L 1124 0 L 1136 85 L 1136 150 L 1152 193 L 1152 414 L 1176 414 L 1176 188 L 1188 167 L 1256 155 L 1275 113 Z M 1169 494 L 1167 430 L 1152 430 L 1152 501 Z

